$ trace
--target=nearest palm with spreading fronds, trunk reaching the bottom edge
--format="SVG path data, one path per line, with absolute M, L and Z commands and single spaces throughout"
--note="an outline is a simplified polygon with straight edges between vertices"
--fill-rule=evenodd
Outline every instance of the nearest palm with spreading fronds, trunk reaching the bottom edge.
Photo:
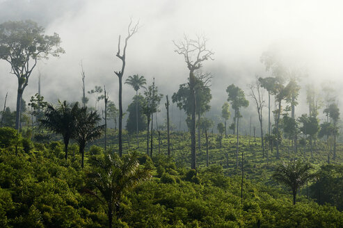
M 92 156 L 87 177 L 90 187 L 93 188 L 88 190 L 88 193 L 106 204 L 111 228 L 113 213 L 118 211 L 120 199 L 125 191 L 150 179 L 151 175 L 149 169 L 139 167 L 137 154 L 134 152 L 122 158 L 117 154 L 106 154 L 104 158 Z

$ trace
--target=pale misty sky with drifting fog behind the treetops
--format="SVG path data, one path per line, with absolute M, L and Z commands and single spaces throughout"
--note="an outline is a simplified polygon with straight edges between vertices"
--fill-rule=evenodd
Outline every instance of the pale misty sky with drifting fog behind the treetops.
M 124 80 L 140 74 L 150 84 L 154 77 L 160 91 L 171 96 L 188 76 L 172 41 L 180 40 L 184 33 L 189 37 L 204 34 L 209 38 L 207 47 L 215 52 L 215 60 L 205 62 L 203 71 L 214 76 L 212 108 L 218 113 L 231 83 L 248 95 L 247 84 L 256 74 L 270 75 L 260 62 L 262 53 L 269 50 L 276 51 L 290 68 L 301 67 L 307 72 L 302 87 L 312 82 L 320 88 L 320 83 L 330 80 L 339 99 L 343 82 L 342 6 L 340 1 L 0 0 L 0 22 L 33 19 L 45 26 L 48 34 L 58 33 L 66 51 L 36 67 L 24 91 L 26 101 L 38 90 L 38 68 L 47 101 L 80 101 L 82 60 L 86 90 L 106 85 L 110 99 L 118 104 L 118 78 L 113 71 L 121 62 L 115 53 L 118 35 L 127 34 L 130 17 L 135 22 L 139 19 L 141 27 L 129 40 Z M 10 65 L 0 61 L 0 105 L 8 91 L 8 104 L 14 108 L 17 79 L 9 72 Z M 303 107 L 297 115 L 307 111 L 305 91 L 301 93 Z M 134 90 L 125 85 L 125 111 L 133 95 Z M 92 97 L 90 104 L 94 104 Z M 255 112 L 253 108 L 250 101 L 251 111 L 246 112 Z

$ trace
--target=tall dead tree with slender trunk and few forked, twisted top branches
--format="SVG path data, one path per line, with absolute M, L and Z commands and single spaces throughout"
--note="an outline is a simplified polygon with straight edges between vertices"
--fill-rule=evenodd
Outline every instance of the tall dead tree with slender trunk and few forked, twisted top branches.
M 132 27 L 132 19 L 130 20 L 129 26 L 127 26 L 127 37 L 125 38 L 124 49 L 122 50 L 122 54 L 120 54 L 120 35 L 118 39 L 118 52 L 115 56 L 122 60 L 122 69 L 120 71 L 115 71 L 114 73 L 118 76 L 119 79 L 119 129 L 118 129 L 118 143 L 119 143 L 119 156 L 122 156 L 122 76 L 124 75 L 125 70 L 125 59 L 126 59 L 126 49 L 127 49 L 127 41 L 131 38 L 134 33 L 138 31 L 138 24 L 137 22 Z

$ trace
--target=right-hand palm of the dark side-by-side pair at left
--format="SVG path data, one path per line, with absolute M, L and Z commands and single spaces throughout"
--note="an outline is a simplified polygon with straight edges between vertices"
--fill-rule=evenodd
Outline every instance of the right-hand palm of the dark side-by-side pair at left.
M 81 167 L 83 168 L 85 147 L 88 142 L 100 138 L 104 131 L 104 125 L 97 126 L 101 120 L 97 111 L 87 111 L 87 107 L 79 108 L 75 116 L 75 131 L 72 138 L 77 141 L 79 145 L 79 152 L 81 154 Z

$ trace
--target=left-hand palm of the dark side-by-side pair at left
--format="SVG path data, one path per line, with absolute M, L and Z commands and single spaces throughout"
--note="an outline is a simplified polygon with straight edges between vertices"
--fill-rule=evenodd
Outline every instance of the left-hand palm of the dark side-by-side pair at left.
M 67 101 L 58 101 L 58 106 L 48 105 L 44 117 L 40 119 L 42 127 L 63 136 L 65 145 L 65 159 L 68 156 L 68 144 L 75 131 L 75 113 L 79 109 L 79 103 L 67 104 Z

